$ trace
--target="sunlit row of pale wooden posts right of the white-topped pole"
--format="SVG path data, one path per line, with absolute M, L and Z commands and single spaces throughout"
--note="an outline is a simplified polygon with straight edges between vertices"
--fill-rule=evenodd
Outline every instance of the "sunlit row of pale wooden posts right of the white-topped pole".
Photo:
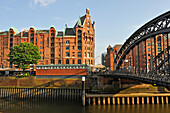
M 170 96 L 147 97 L 111 97 L 111 96 L 86 96 L 88 105 L 119 105 L 119 104 L 168 104 Z

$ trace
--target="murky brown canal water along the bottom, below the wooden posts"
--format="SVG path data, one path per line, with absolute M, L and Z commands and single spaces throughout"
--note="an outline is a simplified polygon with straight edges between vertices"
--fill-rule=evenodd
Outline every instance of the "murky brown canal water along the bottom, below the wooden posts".
M 82 107 L 81 103 L 0 100 L 0 113 L 170 113 L 170 104 Z

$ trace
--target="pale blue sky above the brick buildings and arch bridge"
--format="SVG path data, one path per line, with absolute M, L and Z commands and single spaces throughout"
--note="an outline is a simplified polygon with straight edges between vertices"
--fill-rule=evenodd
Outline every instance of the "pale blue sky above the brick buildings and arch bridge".
M 90 9 L 96 22 L 96 64 L 110 44 L 123 44 L 140 26 L 170 10 L 170 0 L 0 0 L 0 30 L 35 26 L 63 30 L 73 27 Z

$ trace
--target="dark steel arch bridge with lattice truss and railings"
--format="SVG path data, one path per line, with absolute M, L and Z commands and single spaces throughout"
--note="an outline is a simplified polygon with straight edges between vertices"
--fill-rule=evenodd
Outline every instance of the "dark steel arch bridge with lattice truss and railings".
M 170 11 L 134 32 L 119 50 L 111 74 L 170 87 Z

